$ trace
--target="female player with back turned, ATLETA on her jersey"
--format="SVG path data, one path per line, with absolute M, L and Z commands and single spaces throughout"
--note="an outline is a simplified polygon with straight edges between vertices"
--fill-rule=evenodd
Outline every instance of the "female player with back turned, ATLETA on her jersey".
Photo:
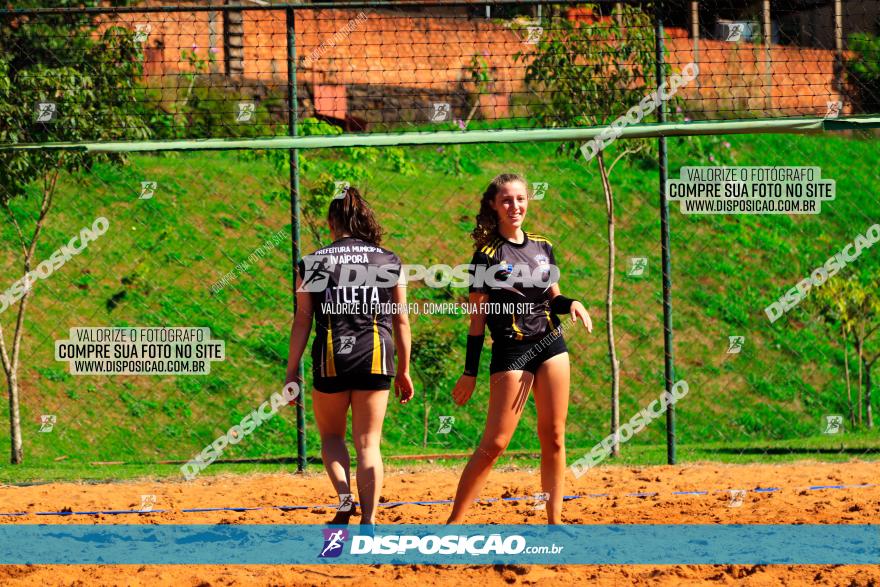
M 312 406 L 321 457 L 337 494 L 351 495 L 345 444 L 350 407 L 361 524 L 373 524 L 383 481 L 379 442 L 392 378 L 400 403 L 413 396 L 406 286 L 400 258 L 379 246 L 382 229 L 356 188 L 346 189 L 342 198 L 330 203 L 327 221 L 333 242 L 298 264 L 285 383 L 298 382 L 314 316 Z M 343 279 L 353 273 L 377 280 L 347 286 Z M 347 524 L 354 511 L 353 506 L 340 508 L 330 523 Z

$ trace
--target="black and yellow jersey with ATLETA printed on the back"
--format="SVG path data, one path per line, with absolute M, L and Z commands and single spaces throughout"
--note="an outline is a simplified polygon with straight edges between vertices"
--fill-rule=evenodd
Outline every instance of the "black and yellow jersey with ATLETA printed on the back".
M 313 374 L 394 375 L 396 352 L 388 309 L 400 275 L 400 258 L 388 249 L 349 236 L 307 255 L 298 268 L 302 288 L 310 292 L 315 317 Z M 375 275 L 379 268 L 393 279 L 381 280 L 378 285 L 375 280 L 354 286 L 341 284 L 342 271 Z M 318 287 L 314 286 L 316 281 L 320 281 Z

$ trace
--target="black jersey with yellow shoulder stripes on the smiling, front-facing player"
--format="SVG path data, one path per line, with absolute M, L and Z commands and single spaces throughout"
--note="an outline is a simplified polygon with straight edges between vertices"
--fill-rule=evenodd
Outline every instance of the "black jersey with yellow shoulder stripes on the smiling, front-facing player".
M 495 238 L 474 252 L 471 264 L 487 269 L 500 266 L 492 272 L 497 280 L 491 283 L 471 283 L 470 291 L 488 293 L 490 304 L 486 312 L 486 324 L 493 342 L 499 340 L 535 340 L 556 331 L 559 318 L 550 311 L 550 287 L 552 283 L 523 284 L 503 283 L 506 275 L 519 266 L 519 273 L 547 274 L 556 265 L 553 244 L 539 234 L 526 232 L 522 243 L 511 242 L 496 234 Z M 539 270 L 536 273 L 536 270 Z M 478 275 L 471 271 L 472 277 Z

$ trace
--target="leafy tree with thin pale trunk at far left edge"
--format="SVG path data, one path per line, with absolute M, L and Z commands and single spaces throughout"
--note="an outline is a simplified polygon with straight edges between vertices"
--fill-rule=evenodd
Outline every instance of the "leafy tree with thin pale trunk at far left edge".
M 38 4 L 20 2 L 18 7 Z M 62 0 L 56 4 L 96 6 L 99 2 Z M 135 84 L 142 73 L 142 45 L 129 29 L 105 24 L 98 32 L 96 23 L 75 14 L 2 18 L 0 143 L 147 139 L 148 128 L 139 116 L 130 113 Z M 99 162 L 121 165 L 125 157 L 75 151 L 0 152 L 0 208 L 12 227 L 16 245 L 10 254 L 20 255 L 24 283 L 20 299 L 10 302 L 8 308 L 18 304 L 11 344 L 0 322 L 0 362 L 9 397 L 13 464 L 24 458 L 20 352 L 25 314 L 35 289 L 31 272 L 37 242 L 61 173 L 89 172 Z M 30 201 L 34 192 L 38 202 Z

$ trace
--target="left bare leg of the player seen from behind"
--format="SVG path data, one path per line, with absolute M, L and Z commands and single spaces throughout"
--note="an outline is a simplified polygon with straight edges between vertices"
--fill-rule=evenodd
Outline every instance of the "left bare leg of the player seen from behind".
M 351 493 L 351 457 L 345 445 L 345 431 L 348 427 L 348 406 L 350 392 L 312 394 L 312 408 L 315 412 L 315 425 L 321 435 L 321 459 L 324 469 L 333 483 L 337 495 Z M 336 512 L 331 524 L 347 524 L 354 513 Z

